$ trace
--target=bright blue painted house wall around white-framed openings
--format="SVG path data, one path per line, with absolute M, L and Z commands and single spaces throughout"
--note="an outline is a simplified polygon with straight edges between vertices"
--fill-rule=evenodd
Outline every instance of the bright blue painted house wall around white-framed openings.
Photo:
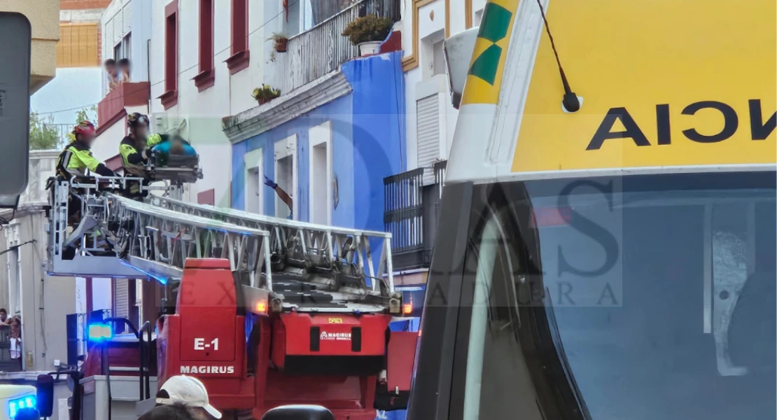
M 338 186 L 332 222 L 385 230 L 383 179 L 402 172 L 406 144 L 402 52 L 348 61 L 340 71 L 353 92 L 232 146 L 232 208 L 245 209 L 245 155 L 261 148 L 264 175 L 272 179 L 274 144 L 296 134 L 298 189 L 291 196 L 297 202 L 296 218 L 309 221 L 308 130 L 331 121 L 333 176 Z M 263 211 L 273 216 L 274 191 L 267 188 L 264 196 Z

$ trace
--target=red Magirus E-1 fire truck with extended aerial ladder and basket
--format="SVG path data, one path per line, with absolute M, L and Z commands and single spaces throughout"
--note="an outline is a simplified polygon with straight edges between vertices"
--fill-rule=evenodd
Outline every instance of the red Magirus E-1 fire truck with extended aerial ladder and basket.
M 175 185 L 142 186 L 144 199 L 121 194 L 138 181 L 54 181 L 52 276 L 150 279 L 164 290 L 155 325 L 130 325 L 129 338 L 89 350 L 82 385 L 138 376 L 141 409 L 153 403 L 152 380 L 189 374 L 225 418 L 285 404 L 349 420 L 406 408 L 417 333 L 389 330 L 410 309 L 395 290 L 390 234 L 186 203 Z M 79 418 L 110 411 L 110 392 L 100 401 L 84 397 L 94 386 L 75 388 Z

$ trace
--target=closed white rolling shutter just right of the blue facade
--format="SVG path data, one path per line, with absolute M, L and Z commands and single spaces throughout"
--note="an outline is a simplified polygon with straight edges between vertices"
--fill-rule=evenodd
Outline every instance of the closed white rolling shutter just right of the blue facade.
M 440 98 L 439 93 L 416 101 L 416 138 L 418 167 L 432 168 L 440 158 Z M 423 185 L 434 184 L 434 171 L 423 172 Z

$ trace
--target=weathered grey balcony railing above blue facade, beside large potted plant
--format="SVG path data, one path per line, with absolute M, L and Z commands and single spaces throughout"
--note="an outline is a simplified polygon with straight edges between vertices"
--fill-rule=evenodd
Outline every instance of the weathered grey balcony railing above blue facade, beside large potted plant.
M 276 54 L 275 87 L 280 89 L 281 94 L 286 94 L 358 57 L 357 47 L 341 35 L 348 23 L 357 17 L 372 14 L 396 22 L 399 20 L 399 4 L 399 0 L 361 0 L 310 30 L 291 36 L 287 52 Z

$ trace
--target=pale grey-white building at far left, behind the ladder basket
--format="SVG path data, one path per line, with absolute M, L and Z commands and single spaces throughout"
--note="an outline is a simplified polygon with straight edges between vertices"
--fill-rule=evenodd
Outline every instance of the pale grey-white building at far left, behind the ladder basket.
M 77 307 L 85 311 L 85 290 L 79 292 L 76 279 L 44 272 L 45 187 L 59 154 L 30 151 L 30 183 L 14 219 L 0 231 L 0 307 L 22 318 L 23 366 L 28 373 L 54 370 L 54 360 L 67 363 L 65 315 L 76 313 Z M 4 210 L 2 217 L 9 218 L 10 212 Z M 18 375 L 0 373 L 0 383 Z

